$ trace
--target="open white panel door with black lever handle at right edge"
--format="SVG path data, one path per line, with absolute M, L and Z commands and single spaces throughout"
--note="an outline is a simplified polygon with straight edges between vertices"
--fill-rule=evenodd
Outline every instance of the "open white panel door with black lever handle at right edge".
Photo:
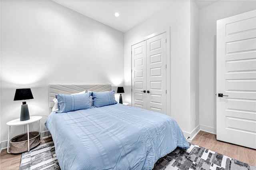
M 216 70 L 217 139 L 256 149 L 256 10 L 217 21 Z

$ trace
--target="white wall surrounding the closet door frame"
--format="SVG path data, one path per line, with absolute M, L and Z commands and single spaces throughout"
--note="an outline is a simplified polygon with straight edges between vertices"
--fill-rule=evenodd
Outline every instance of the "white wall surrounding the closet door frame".
M 167 37 L 167 41 L 170 41 L 167 47 L 170 50 L 170 56 L 167 56 L 167 93 L 170 97 L 167 100 L 167 114 L 178 122 L 187 137 L 195 128 L 190 126 L 190 19 L 190 1 L 173 1 L 162 12 L 124 33 L 124 63 L 129 63 L 124 65 L 124 82 L 126 91 L 130 91 L 125 101 L 131 103 L 131 45 L 151 34 L 170 30 Z M 196 38 L 192 38 L 196 41 Z M 196 57 L 196 51 L 193 56 Z

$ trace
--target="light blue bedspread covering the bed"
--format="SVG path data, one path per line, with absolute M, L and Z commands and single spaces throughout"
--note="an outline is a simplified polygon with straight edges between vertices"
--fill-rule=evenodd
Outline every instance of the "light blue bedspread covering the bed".
M 52 112 L 45 125 L 62 170 L 151 170 L 177 146 L 189 148 L 171 117 L 122 104 Z

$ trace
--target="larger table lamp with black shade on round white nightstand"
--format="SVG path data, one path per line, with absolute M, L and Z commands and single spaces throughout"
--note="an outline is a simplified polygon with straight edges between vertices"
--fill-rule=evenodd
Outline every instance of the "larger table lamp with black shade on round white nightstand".
M 27 99 L 34 99 L 31 89 L 16 89 L 14 101 L 23 100 L 20 110 L 20 121 L 27 121 L 30 119 L 28 105 L 25 101 Z

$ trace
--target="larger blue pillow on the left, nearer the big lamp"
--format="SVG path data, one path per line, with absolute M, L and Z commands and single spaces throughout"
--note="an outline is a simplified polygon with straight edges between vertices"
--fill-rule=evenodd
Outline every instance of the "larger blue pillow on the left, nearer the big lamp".
M 78 95 L 62 95 L 56 94 L 58 100 L 58 111 L 56 113 L 66 113 L 81 109 L 90 109 L 90 93 Z

